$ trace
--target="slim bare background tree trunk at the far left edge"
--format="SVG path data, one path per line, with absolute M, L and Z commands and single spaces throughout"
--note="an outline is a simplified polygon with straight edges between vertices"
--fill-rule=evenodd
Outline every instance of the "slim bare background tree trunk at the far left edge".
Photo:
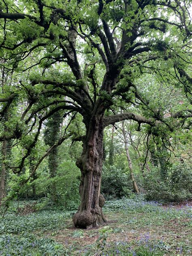
M 4 198 L 4 191 L 5 191 L 5 176 L 6 176 L 6 165 L 4 160 L 6 159 L 6 144 L 7 141 L 2 142 L 2 164 L 1 164 L 1 177 L 0 177 L 0 206 L 2 203 L 2 199 Z

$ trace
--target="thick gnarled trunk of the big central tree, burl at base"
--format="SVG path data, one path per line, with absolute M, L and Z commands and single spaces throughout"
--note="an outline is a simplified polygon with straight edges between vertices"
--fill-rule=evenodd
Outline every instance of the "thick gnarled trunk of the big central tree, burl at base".
M 86 125 L 83 152 L 76 163 L 81 170 L 81 203 L 73 222 L 79 228 L 92 228 L 106 222 L 102 213 L 105 199 L 100 194 L 103 129 L 103 114 L 94 115 Z

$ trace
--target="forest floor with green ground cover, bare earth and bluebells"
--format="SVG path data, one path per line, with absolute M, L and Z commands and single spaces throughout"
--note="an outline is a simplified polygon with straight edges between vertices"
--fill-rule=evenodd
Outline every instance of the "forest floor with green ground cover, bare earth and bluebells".
M 192 202 L 161 205 L 142 196 L 107 201 L 109 222 L 73 227 L 75 211 L 21 201 L 0 217 L 0 255 L 192 255 Z M 19 212 L 18 212 L 19 209 Z

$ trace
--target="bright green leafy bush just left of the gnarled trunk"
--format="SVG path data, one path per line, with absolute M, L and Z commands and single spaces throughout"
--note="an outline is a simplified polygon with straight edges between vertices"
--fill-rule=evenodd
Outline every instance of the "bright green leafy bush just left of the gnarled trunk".
M 79 206 L 79 183 L 80 171 L 71 160 L 63 161 L 59 167 L 55 177 L 50 177 L 47 170 L 38 172 L 38 178 L 32 183 L 26 184 L 23 192 L 20 192 L 19 197 L 33 197 L 32 188 L 35 187 L 36 198 L 46 198 L 46 201 L 40 203 L 39 208 L 43 209 L 47 205 L 60 205 L 66 210 L 74 210 Z M 50 187 L 55 184 L 57 202 L 53 201 Z

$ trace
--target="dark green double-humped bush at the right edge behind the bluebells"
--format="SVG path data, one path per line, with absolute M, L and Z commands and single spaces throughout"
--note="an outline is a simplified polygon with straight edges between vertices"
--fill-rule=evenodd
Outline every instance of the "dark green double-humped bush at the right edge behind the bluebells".
M 144 179 L 147 200 L 185 201 L 192 198 L 192 173 L 190 166 L 173 166 L 163 181 L 156 170 Z

